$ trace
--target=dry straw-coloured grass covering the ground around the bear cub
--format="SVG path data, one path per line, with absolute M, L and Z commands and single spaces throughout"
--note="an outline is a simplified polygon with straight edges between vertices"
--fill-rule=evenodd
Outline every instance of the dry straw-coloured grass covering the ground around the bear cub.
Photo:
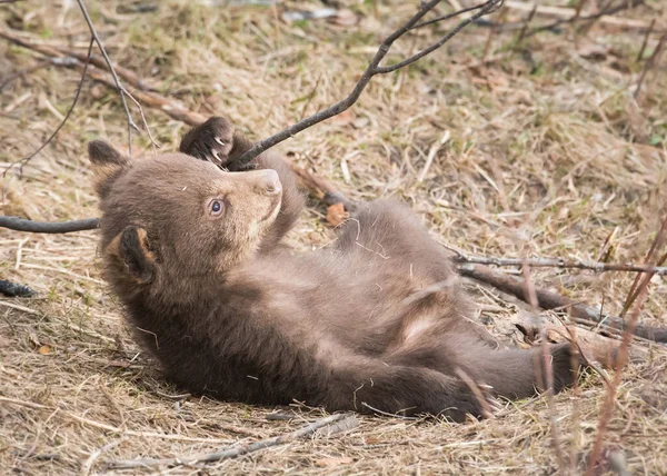
M 228 115 L 257 138 L 344 97 L 375 46 L 416 4 L 342 2 L 359 18 L 355 26 L 342 26 L 323 20 L 287 24 L 276 20 L 270 7 L 166 1 L 155 13 L 120 14 L 120 2 L 88 3 L 116 61 L 195 110 Z M 657 8 L 660 1 L 651 3 Z M 516 14 L 507 19 L 517 20 Z M 640 9 L 630 16 L 649 21 L 656 14 Z M 663 26 L 666 18 L 659 19 Z M 58 2 L 3 7 L 0 21 L 46 43 L 80 51 L 88 43 L 79 11 L 66 11 Z M 415 40 L 399 42 L 397 53 L 415 51 L 434 31 L 439 30 L 425 29 Z M 352 112 L 280 149 L 354 198 L 402 197 L 434 236 L 468 254 L 596 259 L 614 232 L 609 259 L 640 262 L 667 211 L 667 59 L 649 72 L 635 100 L 633 85 L 643 67 L 635 58 L 643 40 L 638 32 L 596 26 L 579 38 L 579 53 L 568 34 L 540 33 L 520 51 L 510 48 L 516 33 L 498 34 L 482 65 L 487 34 L 487 29 L 469 28 L 408 70 L 375 78 Z M 651 37 L 645 56 L 657 39 Z M 6 72 L 37 61 L 7 43 L 0 43 L 0 52 Z M 69 107 L 77 80 L 73 71 L 41 69 L 0 91 L 0 162 L 39 146 Z M 147 116 L 163 148 L 175 148 L 183 125 L 158 111 Z M 445 131 L 451 139 L 419 182 L 429 148 Z M 94 216 L 84 143 L 99 136 L 123 145 L 123 112 L 117 95 L 87 82 L 56 143 L 21 178 L 3 180 L 3 212 L 44 220 Z M 138 147 L 149 152 L 146 135 L 135 141 Z M 330 239 L 321 217 L 313 202 L 293 241 L 306 248 Z M 0 245 L 2 277 L 40 292 L 34 299 L 0 300 L 4 470 L 98 473 L 111 459 L 213 450 L 279 435 L 320 415 L 300 409 L 296 420 L 276 422 L 267 419 L 269 408 L 179 396 L 129 339 L 120 309 L 100 281 L 96 232 L 0 230 Z M 610 311 L 620 309 L 633 279 L 554 269 L 534 276 L 539 286 L 575 299 L 604 300 Z M 470 289 L 481 321 L 500 339 L 514 339 L 508 318 L 521 306 L 492 289 L 472 284 Z M 667 280 L 658 277 L 641 321 L 665 326 L 666 309 Z M 627 370 L 605 446 L 606 455 L 621 450 L 633 474 L 667 470 L 667 358 L 658 348 L 650 356 Z M 579 396 L 556 398 L 566 454 L 575 463 L 590 449 L 604 391 L 601 379 L 593 376 L 583 381 Z M 364 417 L 347 435 L 205 468 L 162 469 L 550 474 L 557 462 L 548 422 L 539 398 L 508 404 L 497 419 L 458 426 Z

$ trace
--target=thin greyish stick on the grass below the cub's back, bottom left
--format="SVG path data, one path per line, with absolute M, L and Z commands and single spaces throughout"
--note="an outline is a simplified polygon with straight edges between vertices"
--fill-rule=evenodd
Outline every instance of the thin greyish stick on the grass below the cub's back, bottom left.
M 331 415 L 326 418 L 312 422 L 296 432 L 288 433 L 286 435 L 275 436 L 272 438 L 260 439 L 259 442 L 246 444 L 246 445 L 233 445 L 222 448 L 216 453 L 200 454 L 195 456 L 181 456 L 177 458 L 165 458 L 165 459 L 125 459 L 110 462 L 109 467 L 112 469 L 133 469 L 133 468 L 148 468 L 152 466 L 180 466 L 191 465 L 196 463 L 215 463 L 221 459 L 236 458 L 238 456 L 247 455 L 259 449 L 270 448 L 271 446 L 285 445 L 286 443 L 295 439 L 303 438 L 312 435 L 318 429 L 327 427 L 334 423 L 342 422 L 348 418 L 355 418 L 352 414 L 338 414 Z

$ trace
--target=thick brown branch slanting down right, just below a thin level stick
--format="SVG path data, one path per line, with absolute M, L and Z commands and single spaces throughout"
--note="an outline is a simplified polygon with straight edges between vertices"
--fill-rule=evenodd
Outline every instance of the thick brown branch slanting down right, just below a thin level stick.
M 462 264 L 458 266 L 458 271 L 468 278 L 486 282 L 501 291 L 508 292 L 521 300 L 526 300 L 526 289 L 521 280 L 507 276 L 484 265 Z M 610 317 L 600 314 L 599 309 L 575 301 L 557 292 L 536 289 L 537 301 L 542 309 L 565 309 L 569 308 L 570 315 L 575 319 L 581 319 L 587 323 L 601 324 L 611 328 L 627 328 L 626 323 L 618 317 Z M 650 326 L 637 325 L 634 327 L 635 335 L 656 343 L 667 343 L 667 329 Z

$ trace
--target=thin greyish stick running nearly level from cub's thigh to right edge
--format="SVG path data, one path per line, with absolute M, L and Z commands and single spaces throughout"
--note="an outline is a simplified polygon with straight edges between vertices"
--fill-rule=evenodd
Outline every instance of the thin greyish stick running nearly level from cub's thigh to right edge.
M 517 259 L 517 258 L 487 258 L 482 256 L 464 256 L 458 255 L 454 258 L 456 262 L 470 262 L 477 265 L 491 266 L 528 266 L 530 268 L 565 268 L 565 269 L 590 269 L 596 272 L 606 271 L 627 271 L 627 272 L 654 272 L 659 276 L 667 276 L 667 266 L 650 266 L 635 265 L 631 262 L 597 262 L 597 261 L 578 261 L 561 258 L 536 258 L 536 259 Z

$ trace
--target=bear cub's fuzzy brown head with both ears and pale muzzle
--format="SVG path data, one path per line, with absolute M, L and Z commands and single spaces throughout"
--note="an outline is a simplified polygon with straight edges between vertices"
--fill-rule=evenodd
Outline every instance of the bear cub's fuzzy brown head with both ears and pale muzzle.
M 88 152 L 104 274 L 121 295 L 219 278 L 252 257 L 280 210 L 273 170 L 227 172 L 183 153 L 130 160 L 104 141 Z

